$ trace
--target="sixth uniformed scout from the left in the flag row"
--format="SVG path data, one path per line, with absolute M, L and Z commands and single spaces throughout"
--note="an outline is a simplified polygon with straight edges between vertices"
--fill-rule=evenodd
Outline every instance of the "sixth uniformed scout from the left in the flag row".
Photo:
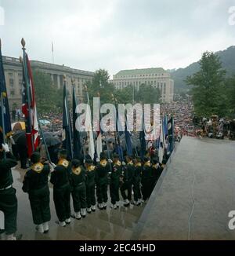
M 96 166 L 96 196 L 100 210 L 107 208 L 107 186 L 110 164 L 104 153 L 100 154 L 100 162 Z

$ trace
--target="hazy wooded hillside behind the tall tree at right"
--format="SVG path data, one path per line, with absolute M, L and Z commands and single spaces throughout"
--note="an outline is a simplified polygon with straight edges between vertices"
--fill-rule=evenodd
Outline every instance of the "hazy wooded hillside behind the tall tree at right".
M 216 55 L 220 57 L 220 61 L 222 62 L 222 68 L 226 70 L 226 76 L 235 75 L 235 46 L 230 46 L 229 48 L 216 52 Z M 171 72 L 172 79 L 175 81 L 175 92 L 188 90 L 188 86 L 186 86 L 186 82 L 184 80 L 188 75 L 193 75 L 197 71 L 199 71 L 198 62 L 194 62 L 190 64 L 186 68 L 179 68 L 175 71 Z

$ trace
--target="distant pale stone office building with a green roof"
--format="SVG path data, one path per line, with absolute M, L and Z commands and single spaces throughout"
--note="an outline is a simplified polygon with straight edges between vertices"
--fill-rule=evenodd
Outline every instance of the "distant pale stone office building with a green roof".
M 161 91 L 162 102 L 173 101 L 174 80 L 171 79 L 170 73 L 163 68 L 122 70 L 114 75 L 111 82 L 118 90 L 127 86 L 134 86 L 135 90 L 139 90 L 140 86 L 151 85 Z

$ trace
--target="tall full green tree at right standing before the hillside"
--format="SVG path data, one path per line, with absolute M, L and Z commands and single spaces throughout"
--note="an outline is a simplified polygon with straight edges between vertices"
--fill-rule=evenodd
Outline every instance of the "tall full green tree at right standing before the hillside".
M 199 61 L 200 71 L 186 79 L 192 85 L 194 110 L 199 117 L 226 115 L 224 77 L 226 71 L 215 53 L 205 52 Z

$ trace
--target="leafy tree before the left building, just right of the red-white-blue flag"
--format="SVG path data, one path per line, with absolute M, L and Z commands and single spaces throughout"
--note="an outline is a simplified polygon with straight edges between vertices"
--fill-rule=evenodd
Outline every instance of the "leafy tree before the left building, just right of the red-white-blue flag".
M 59 112 L 63 106 L 63 90 L 52 85 L 50 75 L 33 70 L 35 99 L 38 113 Z

